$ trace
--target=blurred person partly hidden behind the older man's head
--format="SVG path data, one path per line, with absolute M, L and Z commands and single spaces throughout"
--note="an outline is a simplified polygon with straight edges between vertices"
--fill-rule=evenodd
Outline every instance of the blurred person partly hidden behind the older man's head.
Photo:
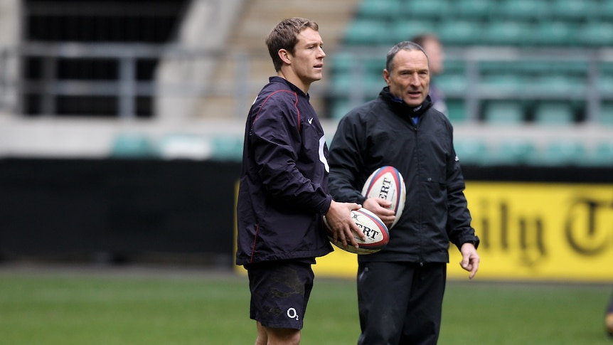
M 434 33 L 422 33 L 410 39 L 411 42 L 417 43 L 428 55 L 430 62 L 430 99 L 432 107 L 449 116 L 447 112 L 447 103 L 445 97 L 437 85 L 435 84 L 435 76 L 443 73 L 444 70 L 444 50 L 441 41 Z

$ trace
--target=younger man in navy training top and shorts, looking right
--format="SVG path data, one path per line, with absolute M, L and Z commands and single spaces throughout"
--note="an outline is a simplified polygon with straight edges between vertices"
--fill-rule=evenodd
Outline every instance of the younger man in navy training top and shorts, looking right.
M 308 93 L 321 79 L 326 56 L 319 26 L 285 19 L 266 44 L 277 75 L 247 115 L 236 264 L 249 277 L 255 344 L 299 344 L 311 265 L 332 251 L 322 216 L 343 245 L 358 247 L 352 230 L 365 236 L 351 220 L 351 210 L 361 206 L 337 203 L 328 192 L 328 147 Z

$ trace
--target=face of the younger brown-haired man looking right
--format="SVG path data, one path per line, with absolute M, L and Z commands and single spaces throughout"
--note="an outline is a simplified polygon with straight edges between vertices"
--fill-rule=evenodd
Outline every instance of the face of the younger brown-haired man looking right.
M 289 54 L 291 68 L 303 85 L 310 85 L 315 80 L 321 80 L 324 68 L 324 43 L 319 32 L 305 28 L 298 34 L 298 43 L 294 53 Z

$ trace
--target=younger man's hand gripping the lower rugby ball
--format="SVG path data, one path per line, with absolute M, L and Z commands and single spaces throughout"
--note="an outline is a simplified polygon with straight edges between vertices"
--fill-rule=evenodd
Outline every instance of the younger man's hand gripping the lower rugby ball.
M 334 243 L 342 243 L 343 247 L 353 245 L 355 248 L 359 248 L 354 234 L 362 240 L 366 240 L 366 236 L 362 232 L 356 222 L 351 218 L 351 211 L 357 210 L 362 206 L 357 203 L 338 203 L 332 201 L 328 213 L 326 213 L 326 222 L 328 227 L 332 230 Z

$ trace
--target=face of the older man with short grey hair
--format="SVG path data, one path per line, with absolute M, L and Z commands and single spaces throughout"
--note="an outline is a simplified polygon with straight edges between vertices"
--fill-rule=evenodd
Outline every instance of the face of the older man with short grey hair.
M 392 60 L 392 70 L 383 70 L 390 92 L 411 106 L 422 104 L 430 89 L 428 60 L 422 51 L 401 50 Z

